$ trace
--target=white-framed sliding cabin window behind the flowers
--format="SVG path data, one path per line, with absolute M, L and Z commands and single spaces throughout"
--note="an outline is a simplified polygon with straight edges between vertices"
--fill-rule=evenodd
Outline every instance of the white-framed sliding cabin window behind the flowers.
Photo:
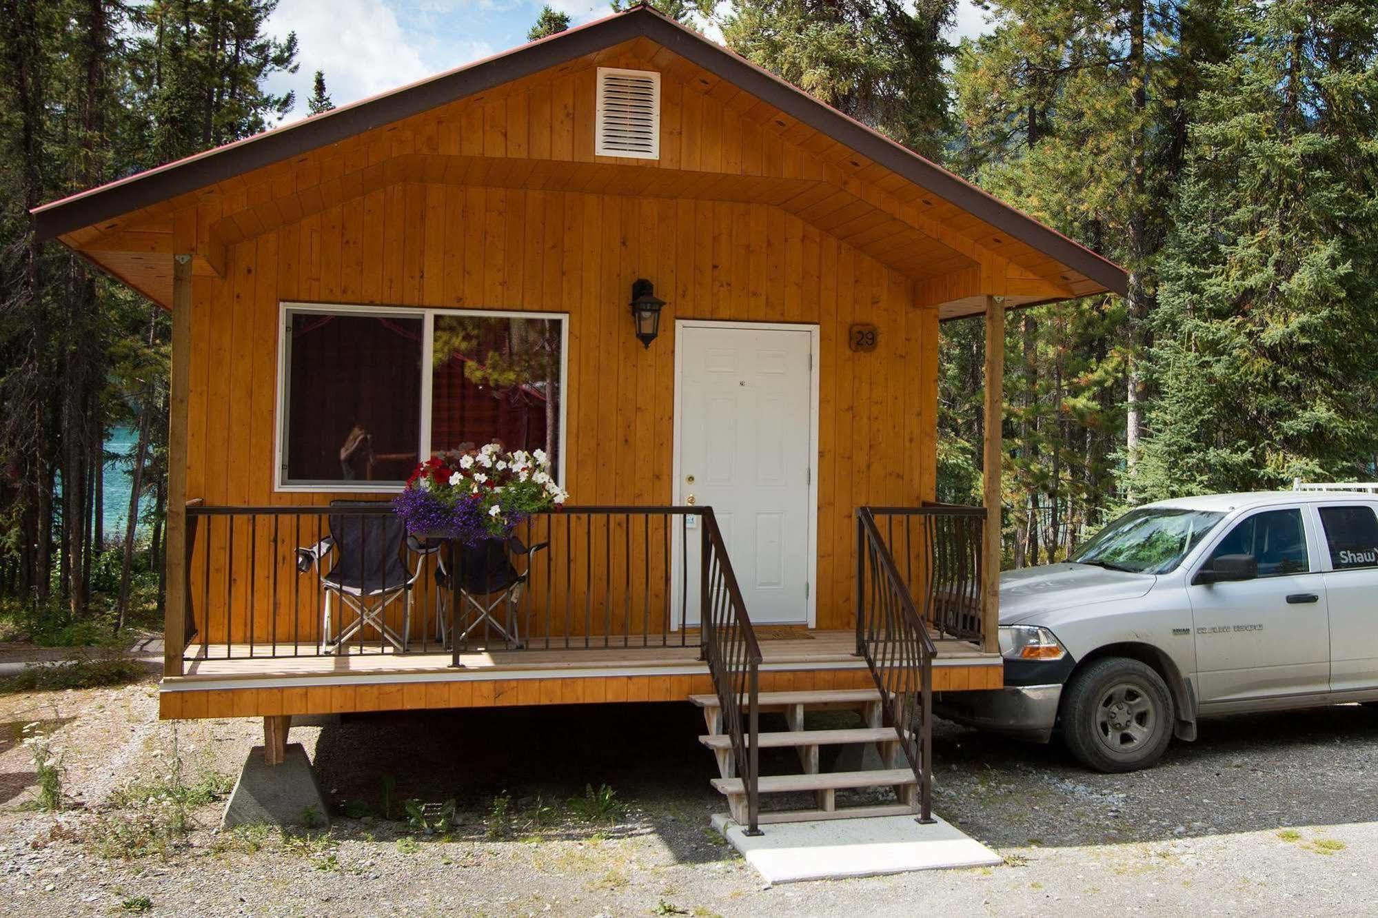
M 395 491 L 435 452 L 499 440 L 562 478 L 565 316 L 284 305 L 284 491 Z

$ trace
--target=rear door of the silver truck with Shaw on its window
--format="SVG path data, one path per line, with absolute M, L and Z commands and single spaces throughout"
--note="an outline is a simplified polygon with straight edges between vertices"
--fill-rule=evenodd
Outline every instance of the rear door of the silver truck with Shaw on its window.
M 1326 536 L 1330 688 L 1378 689 L 1378 514 L 1371 503 L 1316 507 Z

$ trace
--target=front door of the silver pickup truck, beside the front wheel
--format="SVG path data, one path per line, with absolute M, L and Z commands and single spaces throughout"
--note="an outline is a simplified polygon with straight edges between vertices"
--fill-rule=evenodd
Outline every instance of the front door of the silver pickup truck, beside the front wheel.
M 1202 704 L 1330 691 L 1326 583 L 1308 544 L 1299 506 L 1269 507 L 1236 521 L 1193 572 Z M 1221 555 L 1253 555 L 1258 576 L 1200 583 Z

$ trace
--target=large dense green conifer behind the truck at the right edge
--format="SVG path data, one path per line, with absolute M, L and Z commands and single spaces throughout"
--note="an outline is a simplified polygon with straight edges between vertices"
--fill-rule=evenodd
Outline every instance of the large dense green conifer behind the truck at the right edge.
M 1378 10 L 1261 6 L 1210 68 L 1155 317 L 1145 496 L 1371 477 Z

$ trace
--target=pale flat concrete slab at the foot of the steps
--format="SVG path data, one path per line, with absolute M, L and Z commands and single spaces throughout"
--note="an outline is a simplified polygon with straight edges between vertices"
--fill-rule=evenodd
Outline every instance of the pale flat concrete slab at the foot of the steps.
M 718 813 L 712 827 L 772 884 L 992 867 L 1002 860 L 941 819 L 932 826 L 921 826 L 912 816 L 772 823 L 752 838 L 726 813 Z

